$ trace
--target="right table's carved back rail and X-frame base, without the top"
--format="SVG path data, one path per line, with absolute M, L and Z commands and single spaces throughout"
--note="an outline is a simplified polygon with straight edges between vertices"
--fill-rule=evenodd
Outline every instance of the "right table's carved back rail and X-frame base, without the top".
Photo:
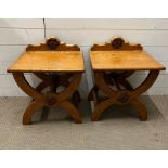
M 125 43 L 122 38 L 115 38 L 111 43 L 94 44 L 91 48 L 91 51 L 132 51 L 142 49 L 143 48 L 140 44 L 132 46 Z M 147 120 L 147 109 L 139 98 L 155 82 L 157 76 L 159 75 L 159 70 L 160 69 L 150 69 L 146 79 L 139 87 L 133 88 L 127 78 L 133 75 L 135 69 L 98 70 L 93 68 L 95 83 L 88 96 L 89 101 L 93 101 L 94 103 L 91 120 L 100 120 L 105 109 L 113 104 L 131 104 L 138 111 L 140 120 Z M 109 86 L 115 86 L 117 90 L 112 89 Z M 105 93 L 105 100 L 99 100 L 99 91 Z

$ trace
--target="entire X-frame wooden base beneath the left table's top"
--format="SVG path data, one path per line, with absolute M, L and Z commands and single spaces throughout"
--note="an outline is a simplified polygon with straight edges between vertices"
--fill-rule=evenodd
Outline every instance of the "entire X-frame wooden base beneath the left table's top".
M 23 116 L 23 125 L 31 124 L 33 114 L 40 107 L 63 107 L 69 112 L 69 115 L 76 124 L 81 124 L 81 114 L 77 109 L 76 105 L 80 102 L 80 95 L 77 91 L 79 82 L 81 80 L 82 73 L 72 73 L 60 77 L 56 74 L 34 73 L 43 81 L 37 87 L 33 88 L 26 80 L 23 73 L 12 73 L 18 87 L 29 96 L 33 101 L 26 108 Z M 72 78 L 72 81 L 68 79 Z M 56 92 L 56 89 L 63 86 L 65 89 L 61 92 Z M 50 87 L 50 91 L 43 93 L 47 87 Z M 70 102 L 72 98 L 72 102 Z

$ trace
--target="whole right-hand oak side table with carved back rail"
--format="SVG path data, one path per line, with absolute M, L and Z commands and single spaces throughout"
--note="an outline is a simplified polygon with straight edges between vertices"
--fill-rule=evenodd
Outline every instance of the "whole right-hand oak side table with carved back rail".
M 139 96 L 152 87 L 159 70 L 166 68 L 143 51 L 142 46 L 126 43 L 122 38 L 94 44 L 90 60 L 95 80 L 89 94 L 94 106 L 91 119 L 100 120 L 103 112 L 112 104 L 131 104 L 137 108 L 140 120 L 147 120 L 146 107 Z M 127 78 L 137 70 L 148 70 L 148 75 L 138 88 L 133 88 Z M 106 94 L 105 100 L 100 99 L 99 91 Z

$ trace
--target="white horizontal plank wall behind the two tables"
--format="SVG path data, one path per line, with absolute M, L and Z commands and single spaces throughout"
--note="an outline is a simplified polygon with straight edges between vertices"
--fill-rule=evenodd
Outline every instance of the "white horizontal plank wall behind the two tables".
M 121 36 L 130 43 L 141 43 L 144 50 L 161 62 L 167 70 L 161 72 L 147 94 L 168 94 L 168 20 L 46 20 L 47 37 L 56 36 L 61 41 L 77 43 L 85 53 L 86 74 L 80 92 L 83 98 L 92 87 L 88 51 L 93 43 L 109 41 Z M 29 43 L 44 41 L 42 20 L 0 20 L 0 96 L 25 95 L 15 85 L 7 68 Z M 130 80 L 135 86 L 144 78 L 137 73 Z M 36 85 L 35 76 L 27 79 Z M 87 78 L 86 78 L 87 77 Z

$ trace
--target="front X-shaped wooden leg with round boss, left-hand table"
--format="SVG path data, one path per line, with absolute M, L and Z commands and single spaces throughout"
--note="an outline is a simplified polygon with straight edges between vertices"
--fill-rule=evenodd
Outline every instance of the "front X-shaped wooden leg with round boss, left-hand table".
M 69 86 L 65 88 L 65 90 L 60 93 L 55 93 L 54 90 L 48 93 L 42 93 L 41 91 L 49 83 L 43 82 L 41 86 L 38 86 L 38 89 L 33 88 L 24 77 L 23 73 L 13 73 L 14 79 L 18 87 L 29 96 L 34 99 L 34 101 L 28 105 L 26 112 L 23 116 L 23 124 L 29 125 L 31 122 L 33 114 L 40 107 L 48 106 L 60 106 L 67 109 L 73 117 L 75 122 L 81 122 L 81 115 L 79 111 L 69 102 L 69 98 L 73 93 L 78 89 L 79 82 L 81 80 L 81 73 L 73 74 L 73 80 Z M 46 79 L 44 74 L 39 74 L 41 78 Z M 48 81 L 49 82 L 49 81 Z M 54 86 L 54 85 L 53 85 Z

